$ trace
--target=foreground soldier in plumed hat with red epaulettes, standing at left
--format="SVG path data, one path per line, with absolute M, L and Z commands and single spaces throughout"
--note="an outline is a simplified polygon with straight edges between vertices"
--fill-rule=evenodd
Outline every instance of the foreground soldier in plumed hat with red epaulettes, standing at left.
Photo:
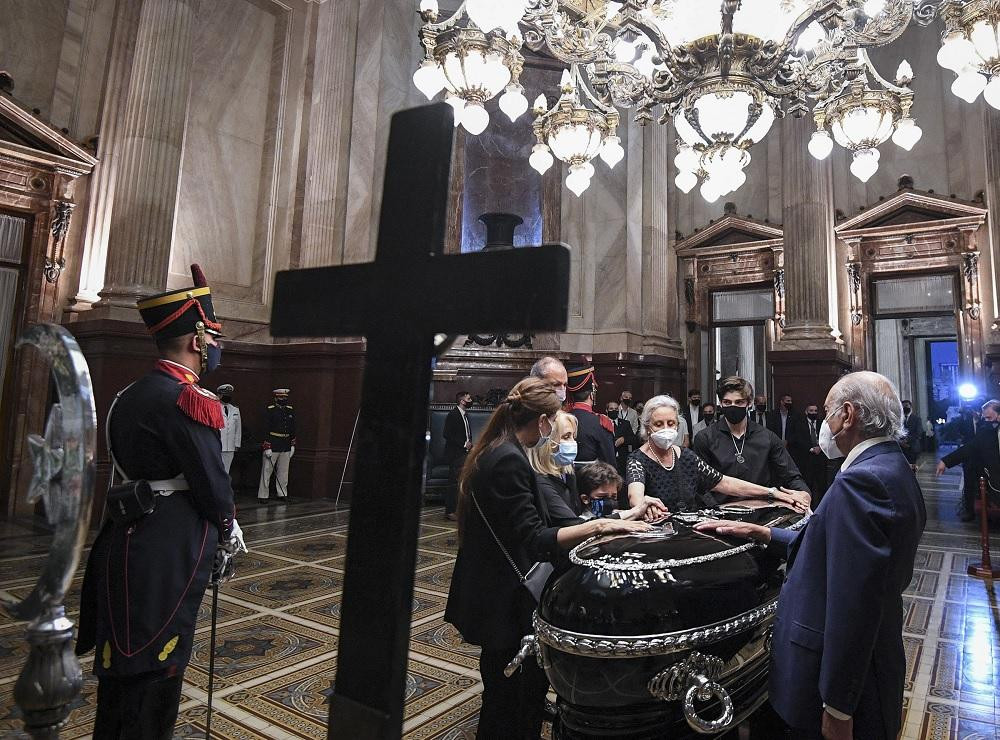
M 222 404 L 198 386 L 219 365 L 222 324 L 201 269 L 191 274 L 192 287 L 139 301 L 160 359 L 108 412 L 119 485 L 87 561 L 76 645 L 96 647 L 98 739 L 171 737 L 205 588 L 219 555 L 242 548 Z

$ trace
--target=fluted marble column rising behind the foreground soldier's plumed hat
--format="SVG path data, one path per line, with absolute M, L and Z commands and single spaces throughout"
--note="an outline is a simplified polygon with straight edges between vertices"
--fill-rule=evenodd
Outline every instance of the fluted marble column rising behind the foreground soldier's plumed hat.
M 166 287 L 200 0 L 145 0 L 125 102 L 101 304 Z

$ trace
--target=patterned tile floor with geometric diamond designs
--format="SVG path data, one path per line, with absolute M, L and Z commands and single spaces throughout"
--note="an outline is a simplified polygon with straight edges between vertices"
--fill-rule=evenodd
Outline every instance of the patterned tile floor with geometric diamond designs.
M 902 737 L 978 740 L 1000 737 L 1000 607 L 982 581 L 965 574 L 979 556 L 978 530 L 955 514 L 961 478 L 920 471 L 929 521 L 906 595 L 908 661 Z M 219 597 L 213 735 L 225 738 L 323 738 L 337 657 L 347 513 L 326 502 L 240 509 L 251 554 Z M 45 551 L 34 522 L 0 523 L 0 589 L 24 596 Z M 457 548 L 440 508 L 424 512 L 406 684 L 405 736 L 475 736 L 479 711 L 476 648 L 443 621 Z M 993 537 L 1000 560 L 1000 537 Z M 75 617 L 79 575 L 67 605 Z M 202 605 L 176 738 L 204 737 L 210 602 Z M 23 627 L 0 622 L 0 736 L 24 737 L 12 700 L 26 646 Z M 64 738 L 87 737 L 96 683 L 87 681 Z

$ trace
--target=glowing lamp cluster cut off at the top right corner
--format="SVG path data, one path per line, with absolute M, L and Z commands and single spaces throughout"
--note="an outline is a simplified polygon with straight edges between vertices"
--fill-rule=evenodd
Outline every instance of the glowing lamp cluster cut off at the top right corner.
M 1000 0 L 945 0 L 938 64 L 952 70 L 951 91 L 966 102 L 983 98 L 1000 109 Z

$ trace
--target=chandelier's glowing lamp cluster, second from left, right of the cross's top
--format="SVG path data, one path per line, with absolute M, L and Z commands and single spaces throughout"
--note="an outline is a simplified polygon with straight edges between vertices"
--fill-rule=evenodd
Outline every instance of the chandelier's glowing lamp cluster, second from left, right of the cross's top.
M 580 102 L 580 89 L 595 108 Z M 579 197 L 590 186 L 594 174 L 591 160 L 600 155 L 608 167 L 614 167 L 625 156 L 625 150 L 615 135 L 618 112 L 594 98 L 575 65 L 572 71 L 563 71 L 561 92 L 551 109 L 546 109 L 544 95 L 535 100 L 533 128 L 538 143 L 531 150 L 528 162 L 543 175 L 552 166 L 552 155 L 555 155 L 569 165 L 566 187 Z

